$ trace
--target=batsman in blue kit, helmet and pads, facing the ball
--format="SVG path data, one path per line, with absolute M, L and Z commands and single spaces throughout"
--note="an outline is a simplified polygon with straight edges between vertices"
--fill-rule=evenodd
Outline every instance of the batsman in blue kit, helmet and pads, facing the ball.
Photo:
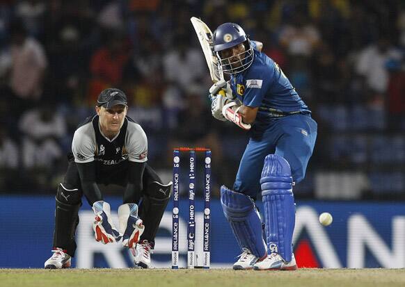
M 212 49 L 223 76 L 209 89 L 212 115 L 248 130 L 249 141 L 232 189 L 221 204 L 241 248 L 234 270 L 295 270 L 292 187 L 305 176 L 317 123 L 283 71 L 238 24 L 221 24 Z M 255 201 L 262 194 L 265 236 Z M 265 237 L 265 240 L 264 238 Z

